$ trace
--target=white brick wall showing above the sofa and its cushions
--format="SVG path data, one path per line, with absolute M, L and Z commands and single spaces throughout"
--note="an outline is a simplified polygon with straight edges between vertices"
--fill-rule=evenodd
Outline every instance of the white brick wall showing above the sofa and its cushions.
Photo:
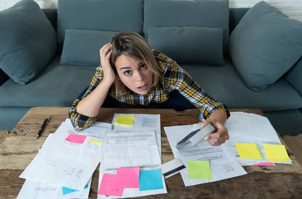
M 56 8 L 57 0 L 35 0 L 41 8 Z M 214 1 L 214 0 L 213 0 Z M 250 8 L 260 0 L 229 0 L 230 8 Z M 19 0 L 0 0 L 0 11 L 12 7 Z M 290 18 L 302 21 L 302 0 L 265 0 Z

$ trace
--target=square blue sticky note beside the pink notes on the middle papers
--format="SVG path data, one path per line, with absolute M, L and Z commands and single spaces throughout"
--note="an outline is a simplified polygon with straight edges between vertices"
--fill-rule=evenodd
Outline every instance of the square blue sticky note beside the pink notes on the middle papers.
M 139 171 L 139 190 L 154 190 L 164 188 L 161 169 Z

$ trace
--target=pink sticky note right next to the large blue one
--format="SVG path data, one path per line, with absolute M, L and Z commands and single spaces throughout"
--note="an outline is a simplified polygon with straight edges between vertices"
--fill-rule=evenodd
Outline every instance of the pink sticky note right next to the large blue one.
M 139 167 L 117 168 L 119 185 L 123 188 L 139 188 Z

